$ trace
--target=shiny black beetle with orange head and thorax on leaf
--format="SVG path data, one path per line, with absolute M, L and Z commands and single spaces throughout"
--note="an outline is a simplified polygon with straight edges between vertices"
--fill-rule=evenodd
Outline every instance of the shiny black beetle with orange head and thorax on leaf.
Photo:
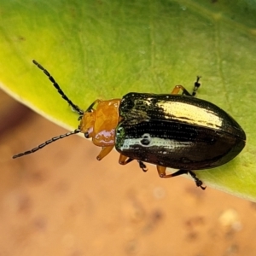
M 61 90 L 50 73 L 37 61 L 62 98 L 79 113 L 79 127 L 53 137 L 24 153 L 32 154 L 64 137 L 79 132 L 101 147 L 97 160 L 102 160 L 115 147 L 119 164 L 137 160 L 143 172 L 144 162 L 154 164 L 160 177 L 189 174 L 195 184 L 206 189 L 195 172 L 222 166 L 234 159 L 245 147 L 246 134 L 223 109 L 195 97 L 200 87 L 197 77 L 192 94 L 183 85 L 176 85 L 171 94 L 131 92 L 122 99 L 96 100 L 85 111 L 75 105 Z M 179 92 L 182 91 L 182 94 Z M 178 169 L 166 174 L 166 168 Z

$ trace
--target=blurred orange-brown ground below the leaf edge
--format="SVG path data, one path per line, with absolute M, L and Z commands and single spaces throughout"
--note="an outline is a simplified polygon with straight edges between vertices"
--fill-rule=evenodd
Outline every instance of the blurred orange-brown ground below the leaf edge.
M 64 131 L 1 93 L 0 256 L 256 255 L 256 207 L 154 166 L 119 166 L 117 152 L 73 136 L 11 156 Z

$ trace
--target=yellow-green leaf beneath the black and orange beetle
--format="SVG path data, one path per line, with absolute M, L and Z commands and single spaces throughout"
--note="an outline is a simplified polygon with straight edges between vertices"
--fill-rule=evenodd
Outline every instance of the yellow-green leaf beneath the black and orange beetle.
M 230 113 L 247 146 L 197 172 L 208 186 L 256 201 L 256 2 L 2 0 L 0 83 L 18 101 L 73 130 L 77 114 L 32 64 L 37 60 L 80 108 L 130 91 L 176 84 Z

